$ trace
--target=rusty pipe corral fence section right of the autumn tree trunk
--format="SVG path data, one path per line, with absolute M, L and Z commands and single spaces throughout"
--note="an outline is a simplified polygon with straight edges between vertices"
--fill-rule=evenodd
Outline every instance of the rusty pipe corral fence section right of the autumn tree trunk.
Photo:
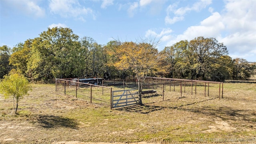
M 134 79 L 134 77 L 127 77 L 127 79 Z M 180 98 L 191 98 L 191 100 L 223 98 L 223 82 L 147 77 L 143 91 L 150 90 L 156 92 L 143 94 L 144 104 Z

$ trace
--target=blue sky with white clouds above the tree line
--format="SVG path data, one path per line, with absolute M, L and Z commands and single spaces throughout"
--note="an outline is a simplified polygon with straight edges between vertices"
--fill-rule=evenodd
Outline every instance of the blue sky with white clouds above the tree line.
M 198 36 L 256 62 L 256 0 L 0 0 L 0 46 L 64 27 L 98 44 L 156 38 L 158 51 Z

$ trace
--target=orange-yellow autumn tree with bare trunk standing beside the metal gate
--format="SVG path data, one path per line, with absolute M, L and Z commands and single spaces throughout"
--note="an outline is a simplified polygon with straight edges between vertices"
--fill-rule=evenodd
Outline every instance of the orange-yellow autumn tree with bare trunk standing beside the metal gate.
M 159 41 L 158 41 L 159 42 Z M 143 83 L 148 74 L 158 64 L 156 46 L 154 40 L 142 40 L 140 43 L 120 42 L 120 46 L 114 49 L 117 62 L 114 66 L 119 70 L 131 69 L 138 79 L 139 103 L 142 104 L 141 92 Z

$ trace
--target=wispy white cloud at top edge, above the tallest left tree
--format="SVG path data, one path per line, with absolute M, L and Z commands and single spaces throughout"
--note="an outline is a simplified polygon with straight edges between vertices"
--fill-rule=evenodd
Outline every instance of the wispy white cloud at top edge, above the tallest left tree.
M 62 17 L 75 17 L 81 19 L 88 14 L 95 18 L 93 10 L 84 8 L 78 0 L 50 0 L 50 12 L 59 14 Z

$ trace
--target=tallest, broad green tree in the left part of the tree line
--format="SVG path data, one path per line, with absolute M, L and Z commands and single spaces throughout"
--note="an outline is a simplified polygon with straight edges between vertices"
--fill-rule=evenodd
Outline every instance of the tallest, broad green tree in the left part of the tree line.
M 77 76 L 79 48 L 78 36 L 70 28 L 48 28 L 32 44 L 28 75 L 46 81 Z

